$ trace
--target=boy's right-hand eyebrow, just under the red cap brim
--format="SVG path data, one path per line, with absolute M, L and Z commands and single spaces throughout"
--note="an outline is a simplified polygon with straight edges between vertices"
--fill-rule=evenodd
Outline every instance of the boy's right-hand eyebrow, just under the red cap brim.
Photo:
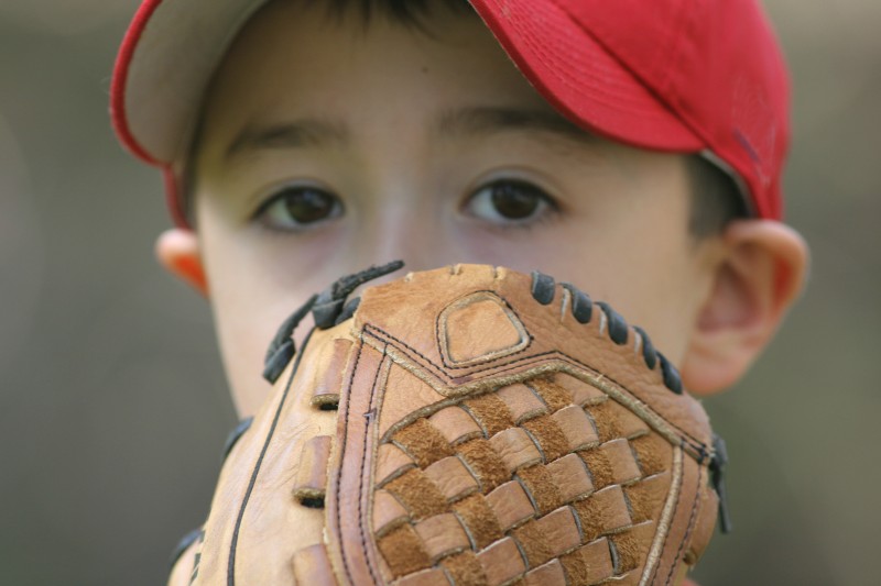
M 518 108 L 475 107 L 445 112 L 437 122 L 439 134 L 492 134 L 511 130 L 557 134 L 577 142 L 595 143 L 597 136 L 556 112 Z

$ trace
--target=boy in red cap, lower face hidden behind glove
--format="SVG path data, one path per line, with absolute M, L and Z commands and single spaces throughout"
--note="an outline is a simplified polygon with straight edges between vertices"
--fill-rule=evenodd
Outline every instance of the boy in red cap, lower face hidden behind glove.
M 241 416 L 292 308 L 391 258 L 574 283 L 703 395 L 797 297 L 785 74 L 752 2 L 471 4 L 141 8 L 115 123 L 165 170 L 177 228 L 157 255 L 210 300 Z

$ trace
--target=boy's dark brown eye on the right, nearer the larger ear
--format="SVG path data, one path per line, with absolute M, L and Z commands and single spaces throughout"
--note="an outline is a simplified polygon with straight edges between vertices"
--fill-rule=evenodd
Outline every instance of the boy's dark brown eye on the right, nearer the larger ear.
M 466 211 L 497 224 L 522 224 L 539 219 L 556 204 L 541 188 L 520 180 L 498 180 L 481 187 L 468 199 Z

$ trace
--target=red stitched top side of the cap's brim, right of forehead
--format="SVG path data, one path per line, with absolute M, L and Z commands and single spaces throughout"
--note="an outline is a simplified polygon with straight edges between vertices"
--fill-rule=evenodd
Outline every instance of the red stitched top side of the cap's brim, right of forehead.
M 535 89 L 580 126 L 645 148 L 697 152 L 706 146 L 555 1 L 471 4 Z

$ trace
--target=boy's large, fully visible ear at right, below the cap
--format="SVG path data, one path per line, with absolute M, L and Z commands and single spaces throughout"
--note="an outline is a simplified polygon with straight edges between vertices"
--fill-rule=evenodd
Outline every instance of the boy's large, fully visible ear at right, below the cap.
M 709 395 L 737 383 L 801 294 L 807 267 L 807 245 L 793 229 L 733 222 L 682 364 L 686 388 Z

